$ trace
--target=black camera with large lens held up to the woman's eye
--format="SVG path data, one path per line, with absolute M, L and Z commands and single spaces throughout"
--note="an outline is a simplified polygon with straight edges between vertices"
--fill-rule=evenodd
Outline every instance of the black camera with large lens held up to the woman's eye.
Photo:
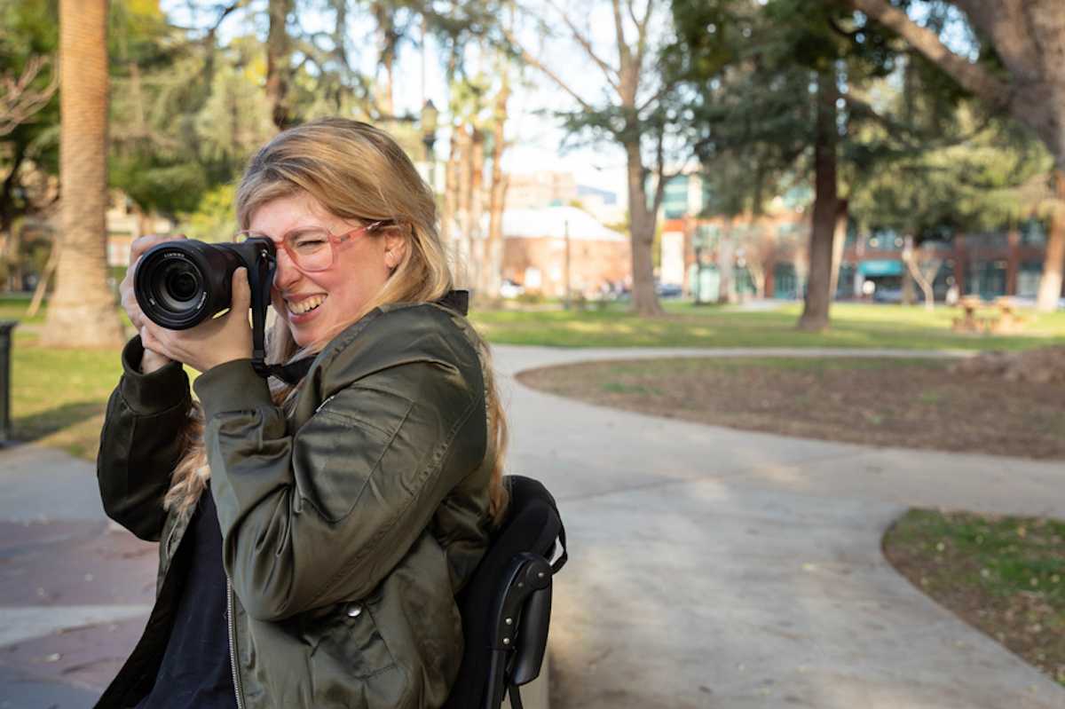
M 141 258 L 133 294 L 152 323 L 186 330 L 230 307 L 233 271 L 242 266 L 248 271 L 252 304 L 265 307 L 276 259 L 274 242 L 262 236 L 241 244 L 164 242 Z

